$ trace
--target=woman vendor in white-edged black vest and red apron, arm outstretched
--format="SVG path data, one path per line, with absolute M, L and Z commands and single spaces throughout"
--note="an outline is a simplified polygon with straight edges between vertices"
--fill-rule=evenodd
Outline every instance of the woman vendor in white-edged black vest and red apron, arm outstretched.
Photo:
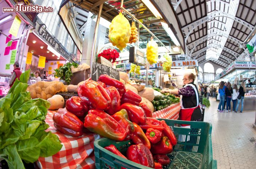
M 199 93 L 197 86 L 194 84 L 194 80 L 194 74 L 188 73 L 183 76 L 183 88 L 173 90 L 163 89 L 161 91 L 162 93 L 181 95 L 180 120 L 201 121 L 202 111 L 199 106 Z

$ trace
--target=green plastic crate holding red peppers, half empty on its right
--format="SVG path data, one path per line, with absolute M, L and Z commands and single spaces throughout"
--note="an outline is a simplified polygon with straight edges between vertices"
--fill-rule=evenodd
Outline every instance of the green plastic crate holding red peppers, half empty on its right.
M 212 125 L 206 122 L 190 122 L 180 120 L 165 120 L 177 138 L 174 151 L 167 154 L 171 163 L 164 165 L 164 169 L 217 169 L 217 161 L 213 160 L 212 154 Z M 180 124 L 189 124 L 190 128 L 179 127 Z M 187 140 L 187 141 L 186 141 Z M 97 169 L 150 169 L 119 157 L 107 151 L 104 147 L 115 145 L 117 149 L 126 155 L 127 148 L 132 142 L 116 142 L 111 139 L 102 138 L 94 142 L 95 165 Z

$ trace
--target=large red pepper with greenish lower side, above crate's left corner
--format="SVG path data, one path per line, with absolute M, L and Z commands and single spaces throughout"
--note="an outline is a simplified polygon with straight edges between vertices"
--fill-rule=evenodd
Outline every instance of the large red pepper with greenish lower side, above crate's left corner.
M 116 141 L 123 141 L 127 135 L 126 130 L 114 118 L 96 109 L 89 110 L 88 115 L 85 116 L 84 127 Z

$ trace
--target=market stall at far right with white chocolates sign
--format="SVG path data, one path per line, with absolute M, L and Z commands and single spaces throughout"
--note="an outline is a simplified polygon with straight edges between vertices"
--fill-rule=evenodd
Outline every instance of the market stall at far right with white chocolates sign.
M 256 103 L 256 85 L 248 84 L 248 79 L 251 82 L 255 82 L 256 73 L 255 73 L 255 62 L 252 61 L 234 61 L 232 62 L 225 70 L 223 70 L 218 76 L 215 77 L 215 80 L 230 82 L 231 86 L 233 84 L 240 87 L 240 81 L 245 81 L 246 93 L 244 98 L 244 111 L 255 110 Z M 231 102 L 231 107 L 233 102 Z M 238 110 L 240 110 L 241 105 L 239 105 Z

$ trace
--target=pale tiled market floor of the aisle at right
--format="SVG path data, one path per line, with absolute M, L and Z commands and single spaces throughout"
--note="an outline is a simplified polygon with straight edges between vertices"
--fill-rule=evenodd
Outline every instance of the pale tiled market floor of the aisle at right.
M 250 142 L 256 139 L 256 129 L 252 128 L 255 111 L 219 113 L 219 102 L 210 98 L 210 104 L 204 122 L 212 123 L 213 158 L 218 169 L 256 169 L 256 144 Z

